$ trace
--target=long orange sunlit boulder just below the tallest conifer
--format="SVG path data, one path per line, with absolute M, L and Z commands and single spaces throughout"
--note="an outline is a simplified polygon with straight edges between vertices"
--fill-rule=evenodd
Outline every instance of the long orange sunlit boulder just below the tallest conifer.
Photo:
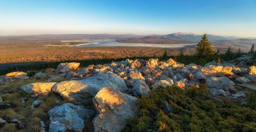
M 207 78 L 209 77 L 222 77 L 225 75 L 232 74 L 232 67 L 223 66 L 207 66 L 203 67 L 199 72 Z

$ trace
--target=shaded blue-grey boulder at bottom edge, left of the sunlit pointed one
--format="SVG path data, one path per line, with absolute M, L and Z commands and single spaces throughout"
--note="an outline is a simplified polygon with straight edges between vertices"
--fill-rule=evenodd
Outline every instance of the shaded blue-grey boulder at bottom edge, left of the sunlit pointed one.
M 48 111 L 50 116 L 49 132 L 82 132 L 84 118 L 92 116 L 93 111 L 84 106 L 66 103 Z

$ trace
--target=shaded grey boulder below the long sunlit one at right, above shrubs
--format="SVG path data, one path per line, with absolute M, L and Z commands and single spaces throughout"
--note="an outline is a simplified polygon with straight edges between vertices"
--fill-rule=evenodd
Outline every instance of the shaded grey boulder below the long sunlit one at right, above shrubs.
M 211 77 L 206 79 L 209 92 L 213 95 L 229 96 L 230 91 L 237 92 L 235 83 L 226 77 Z

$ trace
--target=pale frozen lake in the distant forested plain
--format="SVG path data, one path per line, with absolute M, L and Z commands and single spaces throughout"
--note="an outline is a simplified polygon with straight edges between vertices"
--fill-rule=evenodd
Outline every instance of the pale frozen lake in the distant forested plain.
M 140 46 L 140 47 L 167 47 L 167 48 L 179 48 L 184 46 L 193 46 L 196 44 L 147 44 L 147 43 L 120 43 L 116 40 L 108 39 L 84 39 L 84 40 L 63 40 L 61 42 L 85 42 L 85 44 L 73 45 L 73 46 L 89 46 L 89 47 L 99 47 L 99 46 Z

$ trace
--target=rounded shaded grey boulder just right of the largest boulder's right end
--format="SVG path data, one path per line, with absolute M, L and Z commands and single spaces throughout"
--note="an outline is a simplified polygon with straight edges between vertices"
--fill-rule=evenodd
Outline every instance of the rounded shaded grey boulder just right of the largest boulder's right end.
M 147 86 L 146 82 L 143 80 L 137 80 L 133 87 L 134 95 L 144 96 L 150 92 L 149 87 Z

